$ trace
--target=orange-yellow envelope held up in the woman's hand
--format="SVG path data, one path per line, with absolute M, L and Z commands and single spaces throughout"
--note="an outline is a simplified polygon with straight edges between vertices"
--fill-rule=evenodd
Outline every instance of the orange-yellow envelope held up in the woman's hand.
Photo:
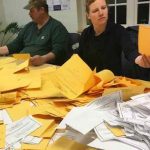
M 150 56 L 150 26 L 140 25 L 138 35 L 139 53 Z

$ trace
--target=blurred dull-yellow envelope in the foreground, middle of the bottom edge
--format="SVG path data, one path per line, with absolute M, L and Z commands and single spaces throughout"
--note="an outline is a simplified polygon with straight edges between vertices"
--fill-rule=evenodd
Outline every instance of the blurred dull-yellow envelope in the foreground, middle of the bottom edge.
M 67 137 L 61 137 L 53 144 L 48 145 L 47 150 L 96 150 L 95 148 L 88 147 L 77 143 Z

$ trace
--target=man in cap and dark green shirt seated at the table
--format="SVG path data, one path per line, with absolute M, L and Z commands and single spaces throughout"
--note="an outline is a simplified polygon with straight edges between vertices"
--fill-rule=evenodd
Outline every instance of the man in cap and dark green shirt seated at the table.
M 14 41 L 0 47 L 0 55 L 30 53 L 31 64 L 37 66 L 64 63 L 69 34 L 59 21 L 49 16 L 46 0 L 29 0 L 24 9 L 29 10 L 32 22 L 25 25 Z

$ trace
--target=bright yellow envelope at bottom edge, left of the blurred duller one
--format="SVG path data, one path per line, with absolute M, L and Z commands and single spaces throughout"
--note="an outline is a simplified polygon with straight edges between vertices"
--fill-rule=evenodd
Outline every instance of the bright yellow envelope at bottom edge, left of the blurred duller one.
M 49 139 L 43 139 L 39 144 L 21 144 L 23 150 L 46 150 Z

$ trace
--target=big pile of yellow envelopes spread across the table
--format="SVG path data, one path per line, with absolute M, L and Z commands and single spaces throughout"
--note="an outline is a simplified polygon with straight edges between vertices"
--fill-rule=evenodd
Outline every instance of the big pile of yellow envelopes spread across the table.
M 98 96 L 118 90 L 122 90 L 124 100 L 128 100 L 150 89 L 150 82 L 117 77 L 110 70 L 96 73 L 78 55 L 73 55 L 61 67 L 48 64 L 31 67 L 29 59 L 28 54 L 0 58 L 0 109 L 6 108 L 13 121 L 32 115 L 42 126 L 31 135 L 41 137 L 45 146 L 58 123 L 74 106 L 83 106 Z M 1 123 L 0 132 L 4 130 Z M 1 141 L 2 136 L 0 148 L 4 144 Z M 25 149 L 40 147 L 22 146 Z

